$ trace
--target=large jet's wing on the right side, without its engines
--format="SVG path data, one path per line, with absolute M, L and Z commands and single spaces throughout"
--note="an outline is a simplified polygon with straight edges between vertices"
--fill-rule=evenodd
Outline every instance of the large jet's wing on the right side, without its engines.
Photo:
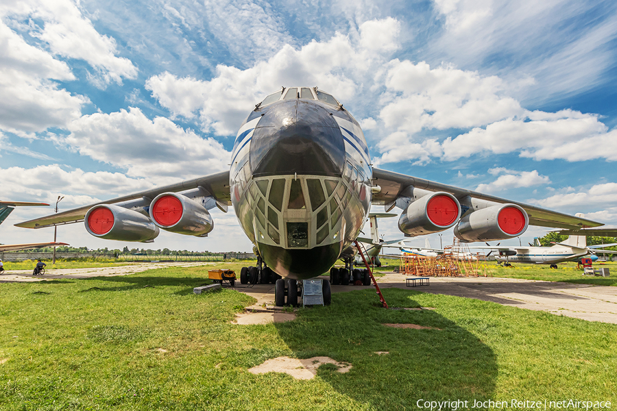
M 465 197 L 472 197 L 474 199 L 482 199 L 486 201 L 493 201 L 495 203 L 512 203 L 522 207 L 529 215 L 530 225 L 539 225 L 541 227 L 553 227 L 564 229 L 581 229 L 583 227 L 599 227 L 602 223 L 596 221 L 581 219 L 580 217 L 570 216 L 561 212 L 555 212 L 546 210 L 536 206 L 530 206 L 529 204 L 519 203 L 518 201 L 511 201 L 503 199 L 501 197 L 494 197 L 492 195 L 482 194 L 472 190 L 466 190 L 465 188 L 459 188 L 455 186 L 448 186 L 447 184 L 441 184 L 437 182 L 431 182 L 427 179 L 418 177 L 411 177 L 409 175 L 394 173 L 392 171 L 386 171 L 381 169 L 373 169 L 373 181 L 372 184 L 381 187 L 381 191 L 373 195 L 372 202 L 374 204 L 383 204 L 388 208 L 389 205 L 394 203 L 400 196 L 401 192 L 409 187 L 422 188 L 428 191 L 445 191 L 454 195 L 459 199 L 461 205 L 465 203 L 463 201 Z M 573 234 L 579 235 L 579 234 Z M 581 234 L 582 235 L 582 234 Z M 599 234 L 593 234 L 599 235 Z M 617 234 L 616 234 L 617 235 Z

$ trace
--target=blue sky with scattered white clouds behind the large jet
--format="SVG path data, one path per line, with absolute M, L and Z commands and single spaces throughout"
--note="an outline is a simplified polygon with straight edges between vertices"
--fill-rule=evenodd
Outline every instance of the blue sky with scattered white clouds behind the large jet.
M 614 1 L 6 1 L 0 197 L 67 210 L 222 171 L 254 104 L 307 85 L 354 114 L 380 168 L 616 225 L 616 16 Z M 12 226 L 47 211 L 16 210 L 0 241 L 51 239 Z M 208 238 L 147 247 L 250 250 L 232 212 L 213 216 Z

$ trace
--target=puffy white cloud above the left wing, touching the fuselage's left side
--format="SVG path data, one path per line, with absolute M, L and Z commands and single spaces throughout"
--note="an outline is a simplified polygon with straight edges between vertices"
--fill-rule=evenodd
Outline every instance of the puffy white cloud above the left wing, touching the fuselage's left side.
M 56 136 L 82 155 L 125 169 L 133 177 L 187 179 L 227 169 L 230 153 L 169 119 L 148 119 L 138 108 L 83 116 Z

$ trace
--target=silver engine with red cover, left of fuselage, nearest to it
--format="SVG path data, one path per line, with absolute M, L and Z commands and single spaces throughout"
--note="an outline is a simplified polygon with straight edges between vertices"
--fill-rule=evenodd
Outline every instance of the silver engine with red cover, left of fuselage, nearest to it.
M 150 217 L 158 227 L 186 236 L 206 236 L 214 228 L 206 208 L 176 192 L 164 192 L 150 204 Z

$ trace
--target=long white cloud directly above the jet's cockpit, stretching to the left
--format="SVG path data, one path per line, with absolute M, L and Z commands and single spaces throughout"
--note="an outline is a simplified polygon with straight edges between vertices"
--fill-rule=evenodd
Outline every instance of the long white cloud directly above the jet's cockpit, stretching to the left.
M 394 24 L 389 20 L 378 23 Z M 341 101 L 351 101 L 363 79 L 370 83 L 384 62 L 379 52 L 358 47 L 348 36 L 336 34 L 326 42 L 313 40 L 301 49 L 285 45 L 269 60 L 249 69 L 219 65 L 210 81 L 162 73 L 150 77 L 146 88 L 174 115 L 191 118 L 199 110 L 204 130 L 226 136 L 234 134 L 239 119 L 281 85 L 319 86 Z

